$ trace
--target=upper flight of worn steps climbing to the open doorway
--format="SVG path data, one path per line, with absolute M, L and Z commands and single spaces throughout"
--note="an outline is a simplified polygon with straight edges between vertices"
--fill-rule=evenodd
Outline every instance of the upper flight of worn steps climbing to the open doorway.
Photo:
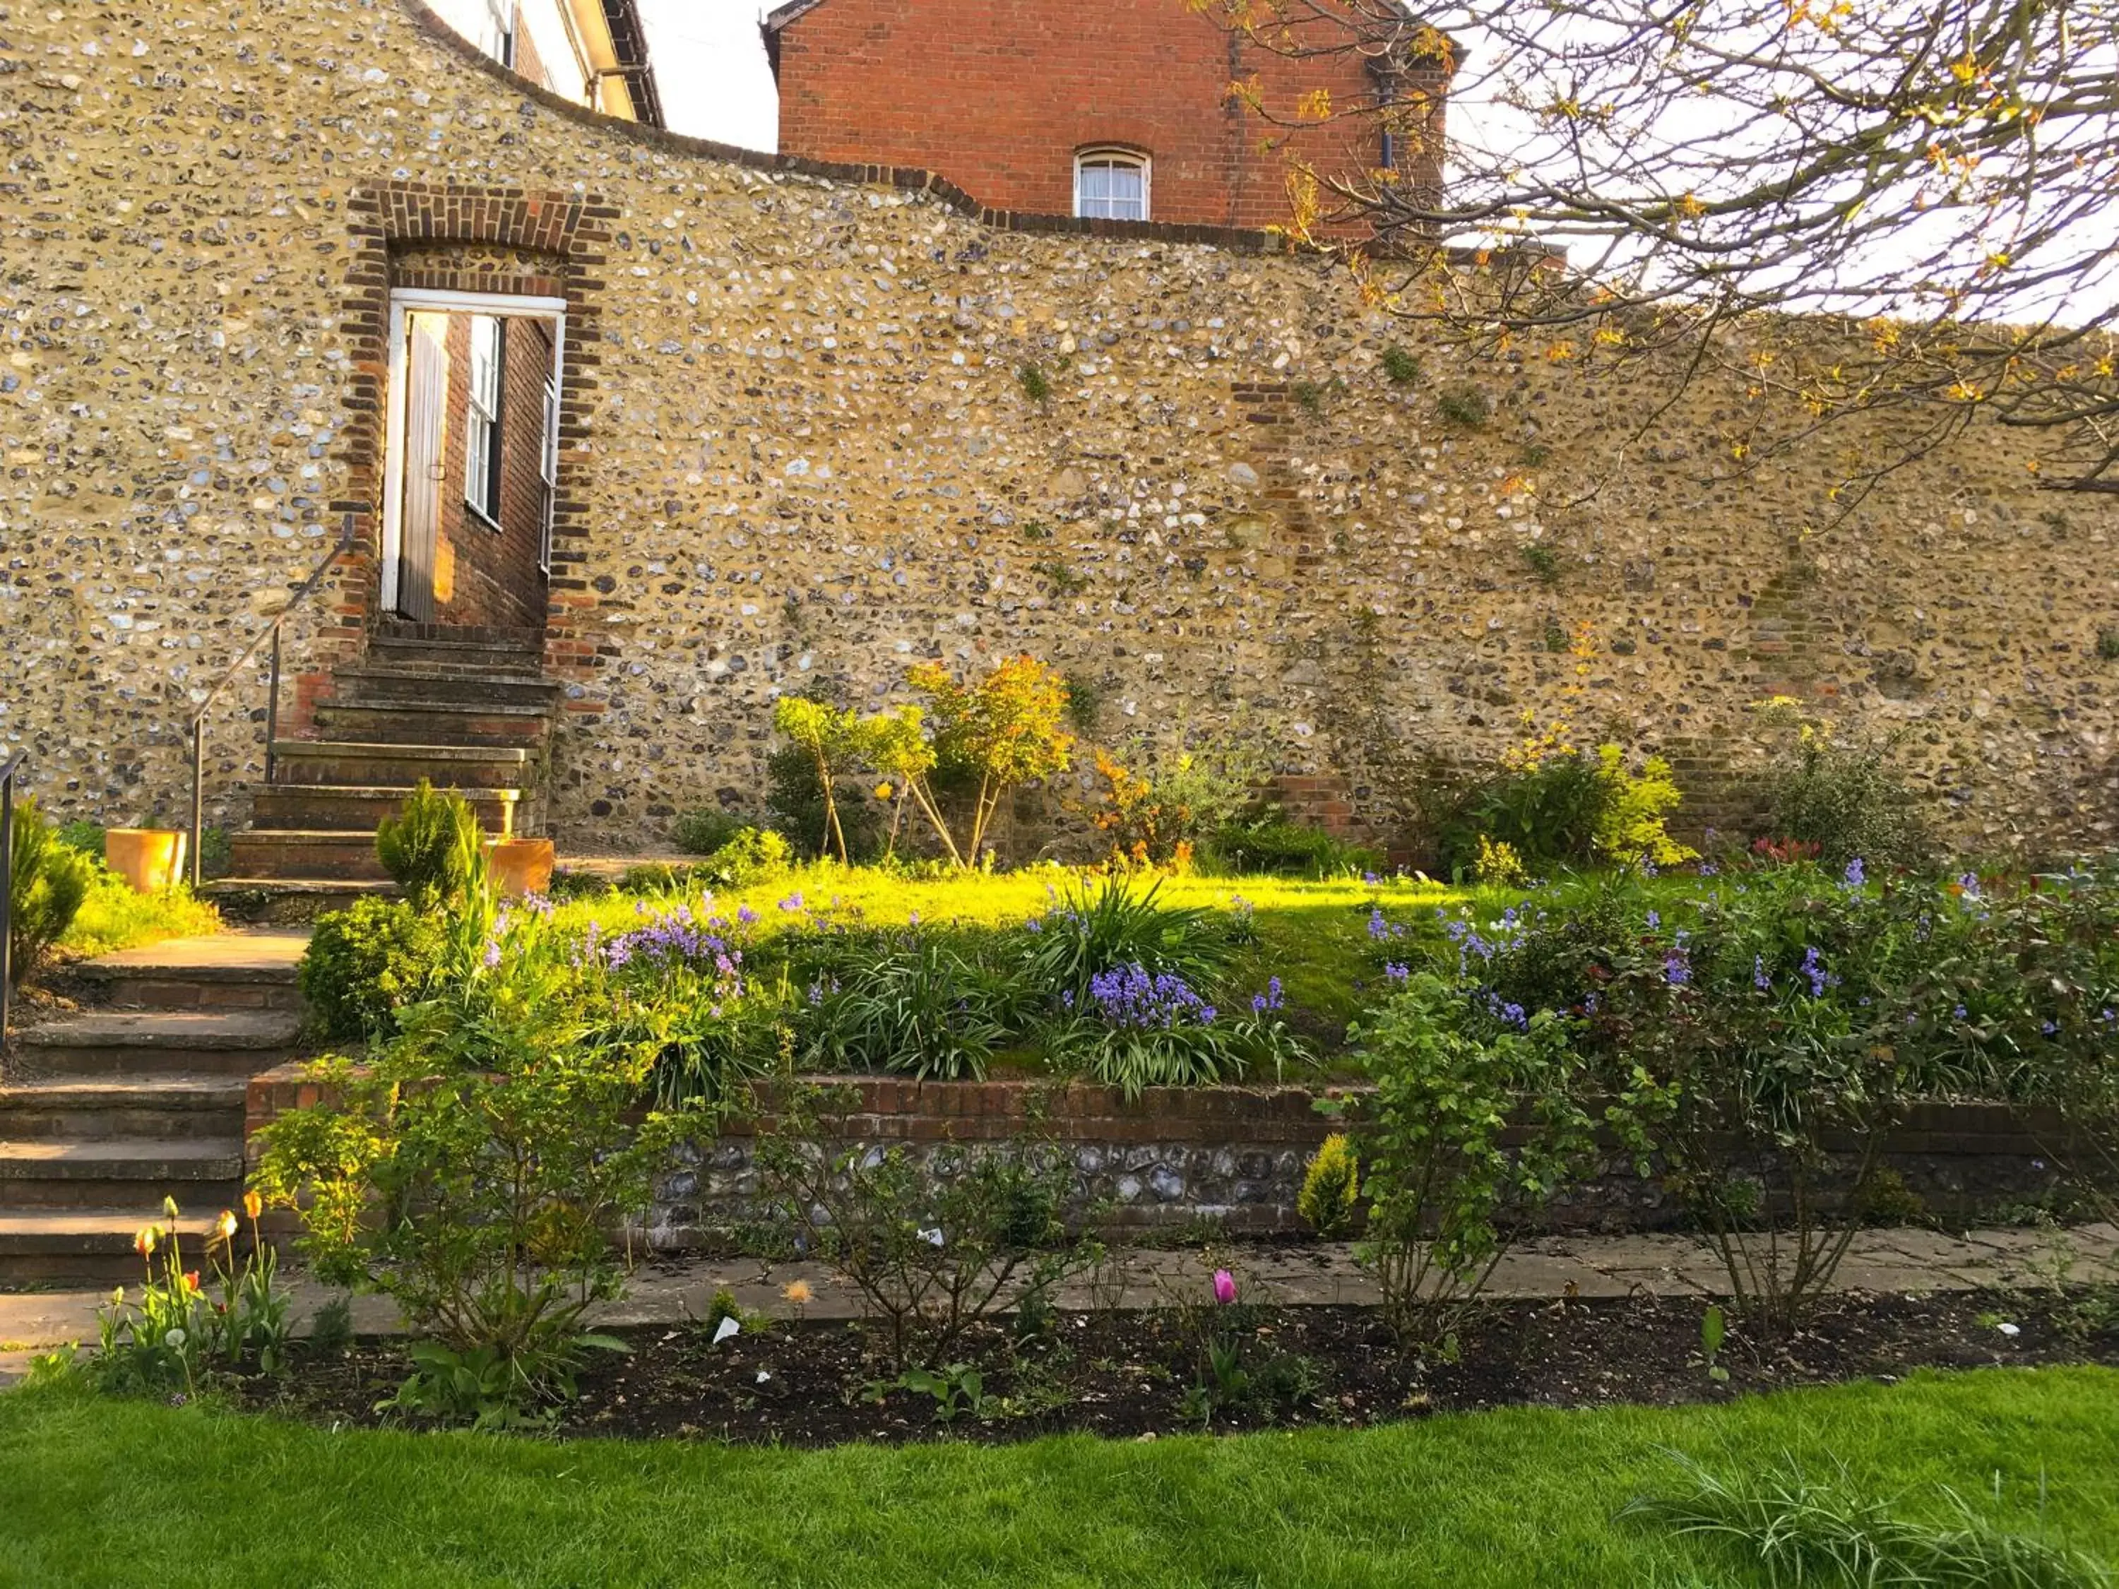
M 559 684 L 534 629 L 386 625 L 333 676 L 320 739 L 280 739 L 273 782 L 231 839 L 231 877 L 252 886 L 377 883 L 375 824 L 426 778 L 470 801 L 487 835 L 545 824 L 545 739 Z

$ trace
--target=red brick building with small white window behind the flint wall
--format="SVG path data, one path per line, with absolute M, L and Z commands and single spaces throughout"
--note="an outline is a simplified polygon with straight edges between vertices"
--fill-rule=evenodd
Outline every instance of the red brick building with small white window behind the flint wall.
M 1320 174 L 1441 180 L 1447 68 L 1409 15 L 1390 36 L 1316 23 L 1288 57 L 1185 0 L 793 0 L 765 17 L 780 153 L 924 167 L 994 210 L 1271 227 L 1290 157 Z M 1276 127 L 1244 106 L 1254 83 Z M 1316 95 L 1329 100 L 1329 119 Z M 1424 106 L 1386 136 L 1382 102 Z M 1411 148 L 1409 148 L 1411 144 Z M 1331 199 L 1324 197 L 1326 210 Z

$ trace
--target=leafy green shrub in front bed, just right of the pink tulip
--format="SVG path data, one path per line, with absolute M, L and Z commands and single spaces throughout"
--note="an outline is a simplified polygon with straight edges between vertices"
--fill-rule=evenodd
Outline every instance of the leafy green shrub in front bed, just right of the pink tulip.
M 1528 1222 L 1596 1165 L 1591 1076 L 1564 1017 L 1468 1000 L 1430 972 L 1352 1036 L 1375 1083 L 1358 1252 L 1401 1337 L 1447 1345 Z M 1528 1129 L 1509 1148 L 1513 1117 Z

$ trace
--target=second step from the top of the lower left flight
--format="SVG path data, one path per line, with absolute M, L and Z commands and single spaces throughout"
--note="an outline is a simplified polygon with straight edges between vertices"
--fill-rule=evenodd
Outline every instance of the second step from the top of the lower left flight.
M 8 1081 L 254 1076 L 297 1045 L 295 1011 L 85 1011 L 15 1034 Z

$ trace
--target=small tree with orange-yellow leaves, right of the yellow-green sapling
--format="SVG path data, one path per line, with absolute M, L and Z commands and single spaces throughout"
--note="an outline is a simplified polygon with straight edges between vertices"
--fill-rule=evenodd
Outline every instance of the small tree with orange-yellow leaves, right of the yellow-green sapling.
M 968 843 L 951 839 L 930 790 L 922 811 L 958 864 L 975 862 L 1000 799 L 1019 784 L 1068 767 L 1074 735 L 1060 727 L 1066 718 L 1066 678 L 1036 657 L 1011 657 L 977 684 L 958 684 L 941 663 L 920 663 L 909 678 L 928 697 L 934 763 L 977 778 Z M 924 786 L 922 775 L 918 788 Z

